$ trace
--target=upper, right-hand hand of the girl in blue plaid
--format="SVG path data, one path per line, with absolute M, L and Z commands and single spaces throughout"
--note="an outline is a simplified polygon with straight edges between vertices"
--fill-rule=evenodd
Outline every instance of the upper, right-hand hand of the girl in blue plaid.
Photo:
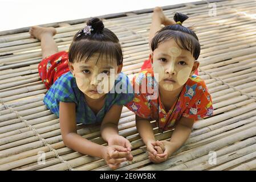
M 128 152 L 129 152 L 129 156 L 128 156 L 127 160 L 132 161 L 132 159 L 133 159 L 133 156 L 131 154 L 132 145 L 128 139 L 126 139 L 120 135 L 115 135 L 108 139 L 108 145 L 109 146 L 117 145 L 117 146 L 122 146 L 122 147 L 127 148 Z

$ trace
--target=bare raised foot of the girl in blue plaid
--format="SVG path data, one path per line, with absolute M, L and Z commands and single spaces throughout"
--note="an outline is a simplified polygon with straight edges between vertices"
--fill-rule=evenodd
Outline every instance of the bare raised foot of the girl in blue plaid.
M 29 30 L 30 37 L 41 40 L 43 35 L 51 35 L 54 36 L 56 34 L 56 29 L 54 27 L 39 27 L 33 26 Z

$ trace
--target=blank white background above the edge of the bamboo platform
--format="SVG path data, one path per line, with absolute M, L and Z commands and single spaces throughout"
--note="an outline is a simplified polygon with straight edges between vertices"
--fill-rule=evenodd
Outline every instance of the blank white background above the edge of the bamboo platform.
M 199 0 L 0 0 L 0 31 Z

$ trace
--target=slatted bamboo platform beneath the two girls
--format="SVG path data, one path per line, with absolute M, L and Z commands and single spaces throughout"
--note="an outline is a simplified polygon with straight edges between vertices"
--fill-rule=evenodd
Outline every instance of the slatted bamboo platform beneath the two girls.
M 211 1 L 214 2 L 214 1 Z M 149 161 L 136 131 L 135 115 L 123 108 L 119 130 L 133 146 L 132 162 L 117 170 L 255 170 L 256 169 L 256 1 L 217 1 L 217 16 L 209 16 L 209 2 L 165 7 L 173 18 L 189 15 L 202 51 L 200 76 L 213 96 L 214 115 L 193 126 L 184 146 L 164 163 Z M 105 27 L 119 37 L 124 51 L 123 72 L 140 71 L 149 56 L 148 34 L 152 10 L 105 17 Z M 104 18 L 104 17 L 103 17 Z M 68 50 L 84 20 L 44 26 L 56 27 L 59 51 Z M 59 119 L 43 104 L 46 88 L 38 75 L 40 42 L 28 28 L 0 32 L 0 170 L 109 170 L 104 160 L 79 154 L 64 146 Z M 153 123 L 152 123 L 153 124 Z M 170 138 L 172 131 L 157 133 Z M 78 125 L 84 138 L 105 144 L 99 127 Z M 213 152 L 214 151 L 214 152 Z M 45 152 L 46 163 L 38 164 Z M 217 156 L 217 163 L 209 160 Z

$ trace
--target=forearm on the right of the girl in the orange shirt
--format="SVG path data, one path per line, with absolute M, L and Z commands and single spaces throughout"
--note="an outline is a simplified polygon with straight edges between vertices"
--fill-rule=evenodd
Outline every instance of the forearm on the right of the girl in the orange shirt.
M 176 151 L 178 148 L 182 146 L 186 142 L 186 140 L 189 138 L 189 135 L 191 133 L 191 128 L 178 124 L 173 131 L 172 137 L 170 138 L 170 141 L 172 143 L 172 146 L 174 146 L 173 150 Z

